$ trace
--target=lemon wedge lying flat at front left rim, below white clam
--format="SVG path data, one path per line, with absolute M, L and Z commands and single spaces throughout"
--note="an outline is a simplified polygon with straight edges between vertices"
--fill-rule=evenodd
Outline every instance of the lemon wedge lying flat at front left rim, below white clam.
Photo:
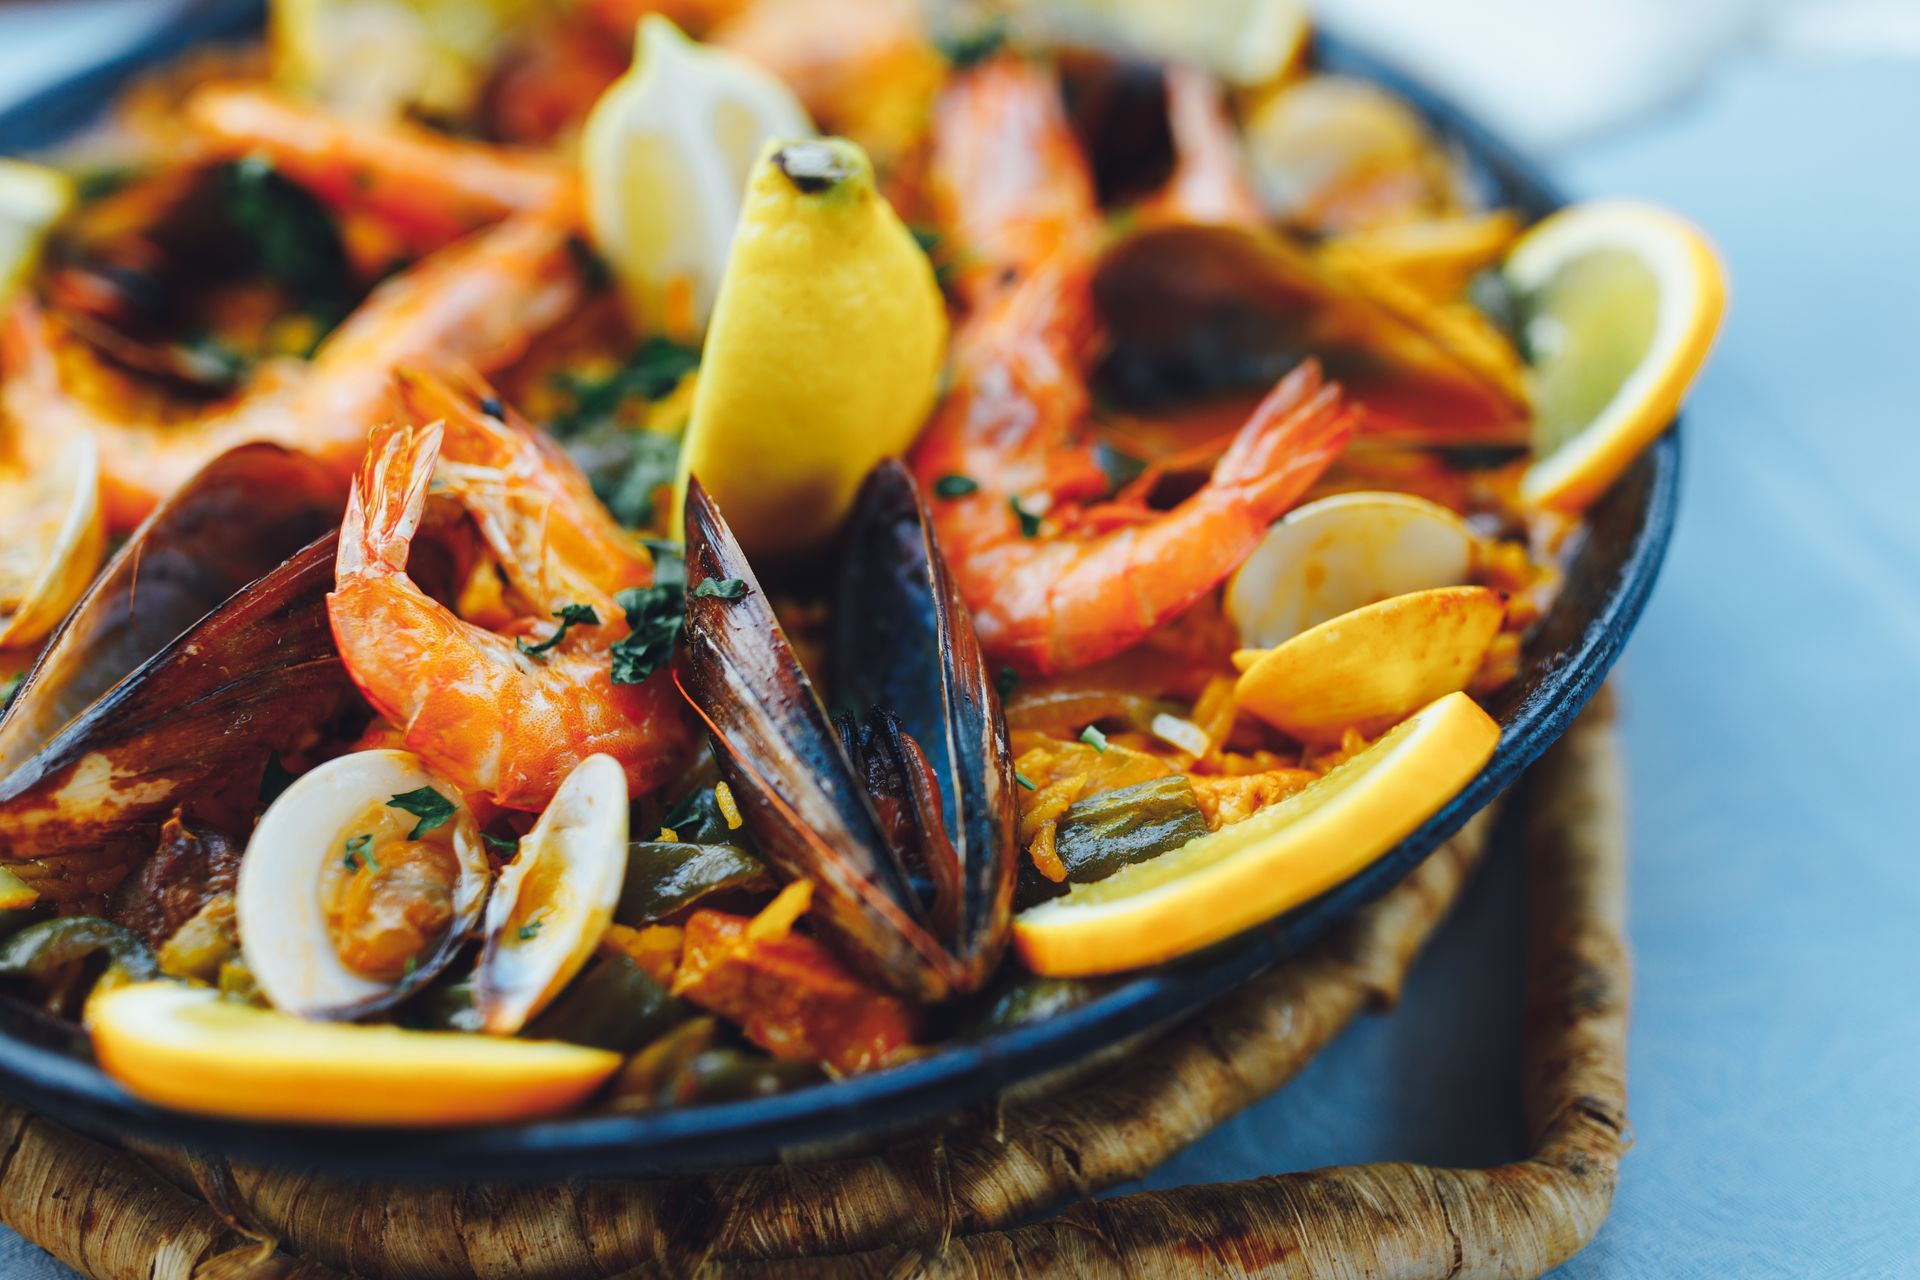
M 246 1121 L 520 1121 L 586 1102 L 620 1067 L 555 1040 L 309 1023 L 177 983 L 96 994 L 86 1027 L 102 1071 L 134 1096 Z

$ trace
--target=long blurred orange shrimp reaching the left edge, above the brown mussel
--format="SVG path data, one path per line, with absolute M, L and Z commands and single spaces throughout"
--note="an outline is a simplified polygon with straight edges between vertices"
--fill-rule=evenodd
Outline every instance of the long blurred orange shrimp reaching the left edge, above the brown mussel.
M 98 405 L 67 386 L 69 336 L 31 299 L 0 336 L 0 409 L 15 451 L 92 432 L 108 524 L 129 530 L 209 459 L 273 439 L 353 476 L 367 424 L 386 416 L 394 368 L 468 365 L 492 372 L 580 301 L 568 213 L 499 223 L 376 288 L 311 363 L 276 361 L 236 397 L 180 418 L 152 405 Z

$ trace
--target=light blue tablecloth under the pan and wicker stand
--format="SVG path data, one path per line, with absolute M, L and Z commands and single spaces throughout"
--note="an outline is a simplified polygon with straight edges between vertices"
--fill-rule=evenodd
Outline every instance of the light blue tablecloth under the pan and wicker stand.
M 1636 1142 L 1565 1276 L 1920 1274 L 1916 121 L 1912 65 L 1755 58 L 1559 157 L 1697 219 L 1734 278 L 1619 681 Z M 1521 1155 L 1521 956 L 1496 862 L 1398 1013 L 1144 1186 Z M 65 1274 L 10 1234 L 0 1270 Z

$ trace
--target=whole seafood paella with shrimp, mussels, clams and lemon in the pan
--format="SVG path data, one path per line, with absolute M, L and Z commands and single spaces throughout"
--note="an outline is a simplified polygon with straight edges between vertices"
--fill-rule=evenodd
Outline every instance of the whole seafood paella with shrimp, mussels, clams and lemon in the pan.
M 0 1000 L 403 1126 L 1058 1017 L 1480 771 L 1722 296 L 1290 4 L 276 0 L 0 161 Z

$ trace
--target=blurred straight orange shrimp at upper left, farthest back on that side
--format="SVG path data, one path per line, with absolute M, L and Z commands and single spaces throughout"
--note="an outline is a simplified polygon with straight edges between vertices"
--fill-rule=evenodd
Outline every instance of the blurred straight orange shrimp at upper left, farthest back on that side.
M 572 184 L 564 167 L 536 152 L 422 125 L 353 121 L 263 88 L 209 84 L 188 98 L 186 119 L 217 150 L 263 154 L 326 203 L 372 213 L 415 251 L 547 209 Z

